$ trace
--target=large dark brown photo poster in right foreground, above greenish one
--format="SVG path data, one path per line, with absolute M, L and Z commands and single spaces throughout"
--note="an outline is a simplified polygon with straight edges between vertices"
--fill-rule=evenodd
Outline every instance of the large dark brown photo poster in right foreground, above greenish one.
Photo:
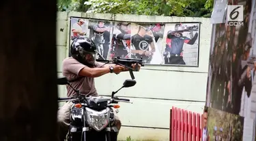
M 244 25 L 214 24 L 210 54 L 207 106 L 255 119 L 256 111 L 256 25 L 251 0 L 244 5 Z

